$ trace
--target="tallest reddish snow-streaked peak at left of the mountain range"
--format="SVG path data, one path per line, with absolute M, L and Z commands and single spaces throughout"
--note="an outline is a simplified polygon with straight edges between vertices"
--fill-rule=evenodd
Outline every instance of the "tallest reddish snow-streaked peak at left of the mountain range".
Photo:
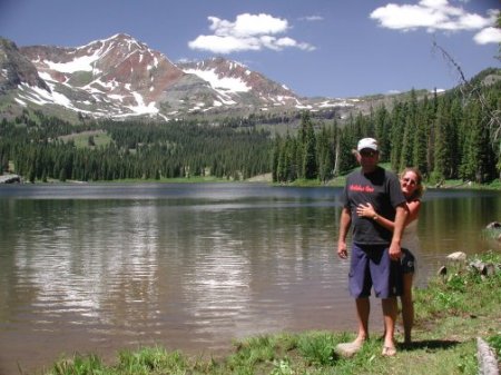
M 35 46 L 19 49 L 49 91 L 24 87 L 24 102 L 59 105 L 94 117 L 158 114 L 164 92 L 185 73 L 160 52 L 126 34 L 78 48 Z

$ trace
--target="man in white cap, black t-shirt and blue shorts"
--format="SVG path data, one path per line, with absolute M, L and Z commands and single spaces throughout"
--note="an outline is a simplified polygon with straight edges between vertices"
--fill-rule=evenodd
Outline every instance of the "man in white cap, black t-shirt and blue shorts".
M 358 334 L 354 342 L 340 344 L 336 352 L 352 356 L 369 338 L 369 314 L 371 288 L 382 298 L 385 335 L 383 355 L 396 354 L 394 327 L 396 318 L 400 241 L 407 215 L 405 197 L 397 177 L 377 165 L 380 160 L 377 141 L 363 138 L 356 148 L 360 170 L 352 172 L 344 188 L 344 207 L 341 213 L 337 255 L 348 257 L 346 236 L 353 223 L 353 246 L 350 264 L 350 293 L 355 297 Z M 376 213 L 394 219 L 394 231 L 377 225 L 379 216 L 372 218 L 356 215 L 358 205 L 370 203 Z

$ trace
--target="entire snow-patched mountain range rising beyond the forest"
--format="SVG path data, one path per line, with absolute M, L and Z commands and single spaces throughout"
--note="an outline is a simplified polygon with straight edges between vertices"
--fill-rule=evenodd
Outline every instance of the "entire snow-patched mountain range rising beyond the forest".
M 76 48 L 18 48 L 0 39 L 0 110 L 17 106 L 91 118 L 168 120 L 197 114 L 341 110 L 357 102 L 299 98 L 223 58 L 174 63 L 124 33 Z

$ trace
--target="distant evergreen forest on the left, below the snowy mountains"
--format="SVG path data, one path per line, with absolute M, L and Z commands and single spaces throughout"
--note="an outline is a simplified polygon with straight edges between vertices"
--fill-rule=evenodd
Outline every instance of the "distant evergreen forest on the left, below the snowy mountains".
M 0 124 L 0 172 L 13 162 L 29 181 L 99 181 L 210 176 L 243 179 L 269 170 L 269 134 L 190 122 L 104 121 L 70 125 L 37 114 Z M 40 124 L 38 124 L 40 122 Z M 100 129 L 106 146 L 76 147 L 60 137 Z

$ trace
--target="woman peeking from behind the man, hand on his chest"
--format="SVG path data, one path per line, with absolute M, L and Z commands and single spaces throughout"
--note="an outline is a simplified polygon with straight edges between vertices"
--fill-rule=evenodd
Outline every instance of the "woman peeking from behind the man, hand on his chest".
M 414 304 L 412 302 L 412 280 L 414 276 L 414 256 L 411 253 L 419 250 L 418 216 L 423 195 L 423 177 L 416 168 L 405 168 L 400 175 L 402 193 L 407 200 L 409 215 L 405 221 L 405 230 L 402 237 L 402 320 L 404 326 L 405 344 L 411 343 L 411 330 L 414 324 Z M 358 216 L 371 218 L 389 230 L 393 230 L 394 223 L 377 215 L 371 204 L 360 205 L 356 209 Z

